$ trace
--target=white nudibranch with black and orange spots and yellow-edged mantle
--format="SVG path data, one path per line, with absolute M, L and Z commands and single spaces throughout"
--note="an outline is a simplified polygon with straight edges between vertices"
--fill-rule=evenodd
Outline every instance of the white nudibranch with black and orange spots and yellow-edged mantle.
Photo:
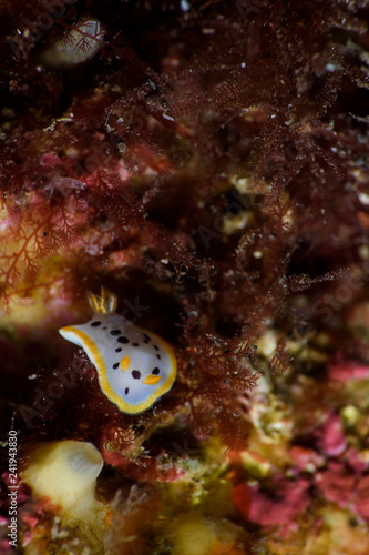
M 175 380 L 172 346 L 117 314 L 116 295 L 105 289 L 101 296 L 89 293 L 88 301 L 92 319 L 62 327 L 59 333 L 83 347 L 98 371 L 101 391 L 121 412 L 146 411 Z

